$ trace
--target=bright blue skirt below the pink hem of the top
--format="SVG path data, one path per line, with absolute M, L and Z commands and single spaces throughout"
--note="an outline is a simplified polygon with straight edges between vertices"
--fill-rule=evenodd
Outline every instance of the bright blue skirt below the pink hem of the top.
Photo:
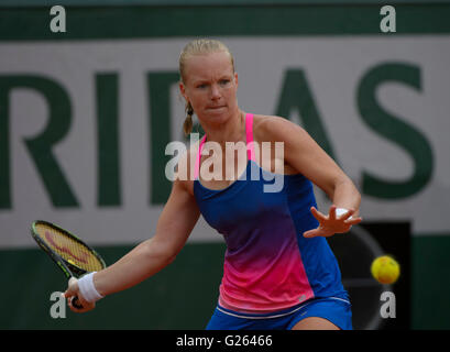
M 342 330 L 352 330 L 349 300 L 339 297 L 314 298 L 288 309 L 255 315 L 237 312 L 218 305 L 207 330 L 290 330 L 298 321 L 318 317 L 331 321 Z

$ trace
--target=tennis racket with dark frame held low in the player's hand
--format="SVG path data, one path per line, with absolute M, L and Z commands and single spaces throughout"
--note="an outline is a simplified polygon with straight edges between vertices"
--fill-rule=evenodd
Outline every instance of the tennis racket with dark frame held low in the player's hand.
M 31 234 L 40 248 L 58 265 L 66 278 L 79 278 L 106 267 L 103 258 L 94 249 L 51 222 L 34 221 Z M 83 308 L 78 297 L 72 299 L 72 305 L 77 309 Z

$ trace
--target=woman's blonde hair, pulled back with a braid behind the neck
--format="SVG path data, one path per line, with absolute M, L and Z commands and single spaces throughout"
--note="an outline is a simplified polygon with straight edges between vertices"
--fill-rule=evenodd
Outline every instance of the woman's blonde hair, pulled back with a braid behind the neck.
M 231 61 L 231 67 L 234 73 L 234 58 L 233 55 L 231 54 L 230 50 L 224 45 L 222 42 L 217 41 L 217 40 L 208 40 L 208 38 L 199 38 L 191 41 L 186 44 L 186 46 L 183 48 L 182 54 L 179 55 L 179 76 L 182 82 L 186 82 L 186 62 L 187 58 L 194 55 L 206 55 L 206 54 L 211 54 L 211 53 L 218 53 L 218 52 L 226 52 L 230 55 L 230 61 Z M 185 106 L 185 112 L 186 112 L 186 119 L 183 124 L 183 131 L 185 132 L 185 135 L 188 135 L 191 130 L 193 130 L 193 114 L 194 114 L 194 109 L 190 102 L 186 101 Z

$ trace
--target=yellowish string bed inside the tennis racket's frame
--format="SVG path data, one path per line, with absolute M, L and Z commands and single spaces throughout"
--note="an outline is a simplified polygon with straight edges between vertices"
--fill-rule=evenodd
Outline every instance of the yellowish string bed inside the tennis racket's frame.
M 88 248 L 64 232 L 45 224 L 36 226 L 36 231 L 41 239 L 69 264 L 87 272 L 100 271 L 103 267 L 102 263 Z

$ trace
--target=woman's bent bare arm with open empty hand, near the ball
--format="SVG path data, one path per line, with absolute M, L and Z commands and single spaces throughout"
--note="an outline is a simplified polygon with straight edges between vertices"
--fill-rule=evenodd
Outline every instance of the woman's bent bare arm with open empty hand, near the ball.
M 305 232 L 304 235 L 330 237 L 348 232 L 351 226 L 361 222 L 361 195 L 338 164 L 299 125 L 283 118 L 271 119 L 270 124 L 272 138 L 285 143 L 285 163 L 310 179 L 332 201 L 328 215 L 311 207 L 311 213 L 319 221 L 319 227 Z

